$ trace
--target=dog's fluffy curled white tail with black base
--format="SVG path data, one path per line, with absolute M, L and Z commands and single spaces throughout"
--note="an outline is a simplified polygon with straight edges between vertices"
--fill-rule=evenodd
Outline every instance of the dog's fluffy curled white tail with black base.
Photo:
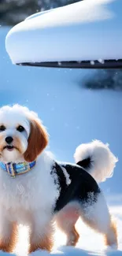
M 74 158 L 76 164 L 90 173 L 98 183 L 113 176 L 113 169 L 118 161 L 109 150 L 109 145 L 98 140 L 79 145 Z

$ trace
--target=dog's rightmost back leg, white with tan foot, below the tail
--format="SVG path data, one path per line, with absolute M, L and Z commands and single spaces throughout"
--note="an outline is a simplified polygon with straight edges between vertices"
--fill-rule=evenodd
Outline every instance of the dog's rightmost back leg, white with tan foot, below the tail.
M 91 195 L 91 200 L 81 204 L 80 217 L 94 231 L 102 233 L 105 238 L 105 245 L 117 248 L 116 224 L 109 213 L 102 192 L 98 194 L 96 202 L 92 201 Z

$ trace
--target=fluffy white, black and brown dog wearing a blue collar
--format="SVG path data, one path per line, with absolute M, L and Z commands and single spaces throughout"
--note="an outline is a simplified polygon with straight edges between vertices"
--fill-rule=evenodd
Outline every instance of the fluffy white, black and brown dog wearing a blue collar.
M 67 245 L 76 246 L 79 217 L 117 247 L 116 224 L 98 186 L 113 175 L 117 158 L 95 140 L 76 148 L 76 164 L 60 162 L 46 152 L 48 141 L 36 113 L 19 105 L 0 109 L 0 250 L 13 252 L 24 224 L 28 253 L 51 251 L 55 222 Z

